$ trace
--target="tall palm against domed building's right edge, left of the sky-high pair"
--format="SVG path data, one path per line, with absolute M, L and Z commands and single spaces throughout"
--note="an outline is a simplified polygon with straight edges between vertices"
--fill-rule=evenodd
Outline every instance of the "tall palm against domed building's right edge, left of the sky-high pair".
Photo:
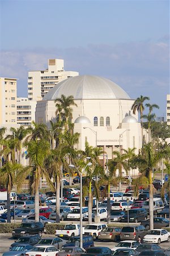
M 141 95 L 141 97 L 138 97 L 137 100 L 134 101 L 134 104 L 131 106 L 131 110 L 133 110 L 133 114 L 136 113 L 136 111 L 138 111 L 138 113 L 140 113 L 140 119 L 141 119 L 141 129 L 142 129 L 142 144 L 143 144 L 143 122 L 142 122 L 142 115 L 143 115 L 143 110 L 145 109 L 145 107 L 143 106 L 143 102 L 146 100 L 150 100 L 149 97 L 143 97 Z

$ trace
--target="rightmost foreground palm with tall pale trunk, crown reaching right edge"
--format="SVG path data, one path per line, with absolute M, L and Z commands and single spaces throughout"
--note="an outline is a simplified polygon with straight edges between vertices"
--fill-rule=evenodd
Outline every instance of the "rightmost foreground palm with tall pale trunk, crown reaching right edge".
M 152 184 L 152 173 L 156 164 L 160 162 L 162 158 L 169 157 L 169 149 L 165 148 L 160 151 L 155 151 L 153 144 L 150 142 L 143 146 L 141 154 L 134 157 L 133 163 L 139 167 L 139 171 L 141 172 L 141 176 L 134 180 L 136 184 L 144 184 L 149 185 L 149 209 L 150 209 L 150 229 L 154 228 L 154 185 Z M 141 182 L 143 179 L 143 183 Z

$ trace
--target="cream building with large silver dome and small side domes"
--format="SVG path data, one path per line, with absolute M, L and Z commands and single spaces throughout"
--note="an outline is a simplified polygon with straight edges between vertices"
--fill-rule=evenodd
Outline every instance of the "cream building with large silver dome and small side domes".
M 85 141 L 102 146 L 108 159 L 112 151 L 141 148 L 138 113 L 131 115 L 134 100 L 120 86 L 98 76 L 75 76 L 59 82 L 37 102 L 36 122 L 49 123 L 56 118 L 54 100 L 64 94 L 73 96 L 74 131 L 80 133 L 76 148 L 84 150 Z

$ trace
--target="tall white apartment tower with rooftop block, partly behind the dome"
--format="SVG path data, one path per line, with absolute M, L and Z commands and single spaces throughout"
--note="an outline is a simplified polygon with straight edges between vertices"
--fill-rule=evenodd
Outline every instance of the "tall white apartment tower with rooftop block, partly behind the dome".
M 40 101 L 58 82 L 78 75 L 78 72 L 65 71 L 63 60 L 49 59 L 48 69 L 28 72 L 28 100 Z

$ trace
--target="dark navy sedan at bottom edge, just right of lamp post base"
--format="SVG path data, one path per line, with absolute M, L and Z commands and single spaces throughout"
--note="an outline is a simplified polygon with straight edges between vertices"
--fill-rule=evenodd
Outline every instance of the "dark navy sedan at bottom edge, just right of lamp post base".
M 86 253 L 82 254 L 83 256 L 93 256 L 93 255 L 96 255 L 96 256 L 111 256 L 112 255 L 112 250 L 109 249 L 108 247 L 98 247 L 98 246 L 94 246 L 94 247 L 91 247 L 89 249 L 86 250 Z

